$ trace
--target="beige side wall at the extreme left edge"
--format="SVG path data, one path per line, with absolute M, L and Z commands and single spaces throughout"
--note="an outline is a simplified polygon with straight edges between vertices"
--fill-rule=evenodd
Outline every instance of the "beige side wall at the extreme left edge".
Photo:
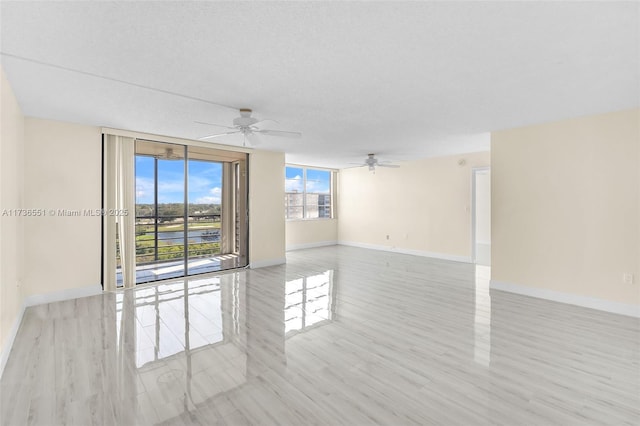
M 22 164 L 24 117 L 0 68 L 0 352 L 2 365 L 8 356 L 8 338 L 24 301 L 22 233 L 24 220 L 2 214 L 23 207 Z

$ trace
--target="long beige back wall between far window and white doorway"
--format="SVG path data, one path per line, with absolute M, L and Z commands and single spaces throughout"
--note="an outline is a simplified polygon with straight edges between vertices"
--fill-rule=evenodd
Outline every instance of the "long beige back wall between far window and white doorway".
M 469 261 L 471 169 L 488 165 L 483 152 L 342 170 L 339 241 Z

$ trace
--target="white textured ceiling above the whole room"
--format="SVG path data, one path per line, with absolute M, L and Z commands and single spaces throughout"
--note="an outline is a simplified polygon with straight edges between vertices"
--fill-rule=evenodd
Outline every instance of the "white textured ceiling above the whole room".
M 303 133 L 260 148 L 340 168 L 638 107 L 639 7 L 2 1 L 2 64 L 28 116 L 196 139 L 249 107 Z

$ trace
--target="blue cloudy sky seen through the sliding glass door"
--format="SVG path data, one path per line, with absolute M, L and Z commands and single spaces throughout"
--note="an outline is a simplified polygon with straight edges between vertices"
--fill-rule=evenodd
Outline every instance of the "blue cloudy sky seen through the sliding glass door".
M 189 202 L 220 204 L 222 163 L 189 160 Z M 184 201 L 184 162 L 158 160 L 158 202 Z M 153 157 L 136 156 L 136 203 L 153 203 Z

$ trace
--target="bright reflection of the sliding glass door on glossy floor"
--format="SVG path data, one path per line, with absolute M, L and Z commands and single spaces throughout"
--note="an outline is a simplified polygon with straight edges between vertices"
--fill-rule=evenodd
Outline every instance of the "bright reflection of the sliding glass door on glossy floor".
M 234 273 L 115 295 L 118 387 L 135 389 L 138 421 L 188 413 L 246 382 L 241 293 Z

